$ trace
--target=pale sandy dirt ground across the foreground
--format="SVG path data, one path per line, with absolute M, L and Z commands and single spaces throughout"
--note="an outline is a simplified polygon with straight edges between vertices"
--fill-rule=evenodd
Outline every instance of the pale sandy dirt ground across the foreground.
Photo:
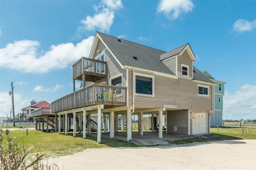
M 63 170 L 212 169 L 256 167 L 256 140 L 214 141 L 146 148 L 86 149 L 49 159 Z

